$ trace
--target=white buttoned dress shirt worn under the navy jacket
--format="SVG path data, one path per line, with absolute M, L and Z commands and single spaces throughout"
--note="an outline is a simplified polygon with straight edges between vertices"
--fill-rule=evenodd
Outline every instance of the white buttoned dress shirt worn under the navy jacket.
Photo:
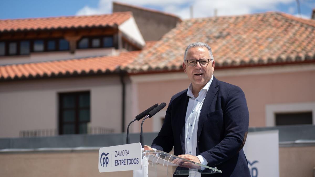
M 189 96 L 190 98 L 185 119 L 185 154 L 196 156 L 197 132 L 200 111 L 212 80 L 213 76 L 211 77 L 209 82 L 200 90 L 197 98 L 195 98 L 192 94 L 192 84 L 190 84 L 188 87 L 187 96 Z M 207 160 L 202 155 L 198 155 L 197 157 L 200 160 L 201 164 L 208 164 Z

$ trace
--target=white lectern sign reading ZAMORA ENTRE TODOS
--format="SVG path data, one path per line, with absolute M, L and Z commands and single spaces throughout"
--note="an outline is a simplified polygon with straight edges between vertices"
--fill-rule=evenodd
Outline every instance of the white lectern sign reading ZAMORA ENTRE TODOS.
M 99 171 L 139 170 L 142 163 L 140 143 L 102 147 L 99 151 Z

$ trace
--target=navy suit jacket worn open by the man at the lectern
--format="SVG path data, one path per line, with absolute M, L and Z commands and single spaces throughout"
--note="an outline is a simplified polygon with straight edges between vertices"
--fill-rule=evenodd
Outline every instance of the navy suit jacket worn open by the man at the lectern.
M 189 97 L 187 89 L 175 94 L 169 103 L 165 120 L 152 148 L 185 154 L 185 117 Z M 196 155 L 202 155 L 207 166 L 217 167 L 222 174 L 209 176 L 250 177 L 243 151 L 249 123 L 245 95 L 238 86 L 218 81 L 209 87 L 199 116 Z M 203 175 L 204 176 L 204 175 Z

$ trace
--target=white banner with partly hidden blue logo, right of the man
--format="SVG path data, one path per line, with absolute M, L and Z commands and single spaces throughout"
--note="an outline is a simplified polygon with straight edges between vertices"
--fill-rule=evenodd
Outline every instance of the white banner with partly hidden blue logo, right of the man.
M 278 130 L 249 132 L 243 150 L 252 177 L 279 177 Z

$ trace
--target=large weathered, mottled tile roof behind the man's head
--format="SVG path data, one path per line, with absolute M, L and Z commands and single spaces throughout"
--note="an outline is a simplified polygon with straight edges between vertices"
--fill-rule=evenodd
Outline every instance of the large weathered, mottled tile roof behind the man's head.
M 278 12 L 184 20 L 124 69 L 180 70 L 187 45 L 198 41 L 217 67 L 315 61 L 315 20 Z

